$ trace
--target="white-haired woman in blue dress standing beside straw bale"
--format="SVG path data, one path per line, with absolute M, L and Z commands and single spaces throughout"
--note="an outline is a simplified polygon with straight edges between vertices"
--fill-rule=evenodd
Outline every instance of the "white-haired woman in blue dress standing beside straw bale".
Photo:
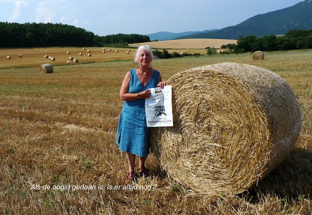
M 127 72 L 120 88 L 120 98 L 124 100 L 117 129 L 116 144 L 126 152 L 128 161 L 127 181 L 134 178 L 136 155 L 139 157 L 139 175 L 147 175 L 145 161 L 148 155 L 148 130 L 145 116 L 145 99 L 150 89 L 164 87 L 160 72 L 151 67 L 153 52 L 147 45 L 140 46 L 134 62 L 138 67 Z

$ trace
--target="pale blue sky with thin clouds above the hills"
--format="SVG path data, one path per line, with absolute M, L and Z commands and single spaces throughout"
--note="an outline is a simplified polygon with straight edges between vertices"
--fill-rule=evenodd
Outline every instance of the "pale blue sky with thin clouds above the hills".
M 304 0 L 0 0 L 1 22 L 62 23 L 99 36 L 221 29 Z

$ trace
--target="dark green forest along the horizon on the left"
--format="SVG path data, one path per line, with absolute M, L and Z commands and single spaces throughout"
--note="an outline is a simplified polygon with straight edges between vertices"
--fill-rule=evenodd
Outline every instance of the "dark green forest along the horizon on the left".
M 82 28 L 52 23 L 0 22 L 0 48 L 57 47 L 57 46 L 117 46 L 149 42 L 139 34 L 94 35 Z

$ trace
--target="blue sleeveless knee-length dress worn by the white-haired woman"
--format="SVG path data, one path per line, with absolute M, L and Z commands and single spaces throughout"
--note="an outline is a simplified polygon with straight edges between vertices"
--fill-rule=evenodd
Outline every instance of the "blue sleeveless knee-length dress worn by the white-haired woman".
M 153 75 L 145 86 L 140 82 L 136 69 L 130 70 L 129 93 L 138 93 L 157 87 L 159 71 L 154 69 Z M 146 157 L 148 149 L 148 129 L 145 116 L 145 99 L 125 101 L 121 111 L 116 144 L 121 151 Z

